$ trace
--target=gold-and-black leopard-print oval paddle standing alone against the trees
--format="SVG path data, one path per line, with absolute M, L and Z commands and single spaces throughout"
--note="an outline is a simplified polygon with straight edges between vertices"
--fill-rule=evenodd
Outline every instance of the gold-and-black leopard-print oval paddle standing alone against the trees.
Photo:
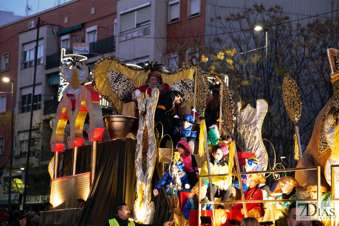
M 284 79 L 282 82 L 282 99 L 285 104 L 285 108 L 288 116 L 294 123 L 294 125 L 298 125 L 300 115 L 301 115 L 301 96 L 300 91 L 298 89 L 296 81 L 288 75 L 284 75 Z

